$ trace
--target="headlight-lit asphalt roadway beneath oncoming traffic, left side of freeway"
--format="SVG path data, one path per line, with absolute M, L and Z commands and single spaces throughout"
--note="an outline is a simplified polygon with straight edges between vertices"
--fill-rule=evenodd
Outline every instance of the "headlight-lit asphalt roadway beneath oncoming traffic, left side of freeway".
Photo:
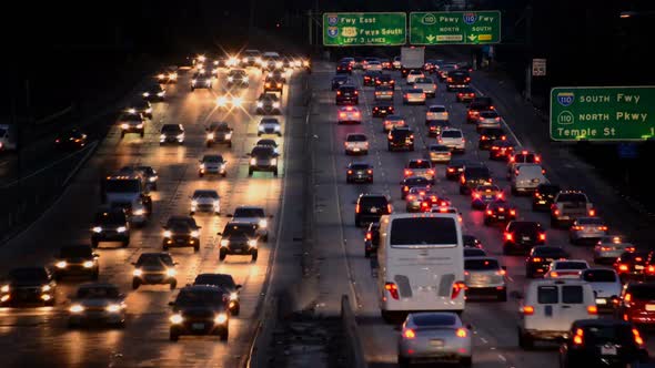
M 117 284 L 128 295 L 128 321 L 124 330 L 68 330 L 66 308 L 68 296 L 73 294 L 78 280 L 66 279 L 59 284 L 58 304 L 53 308 L 28 308 L 0 310 L 0 348 L 6 352 L 3 361 L 9 367 L 233 367 L 248 354 L 249 340 L 256 318 L 265 277 L 270 269 L 271 247 L 276 235 L 272 233 L 266 245 L 260 247 L 255 264 L 248 257 L 228 257 L 218 262 L 216 232 L 229 221 L 225 214 L 241 204 L 262 205 L 269 214 L 278 214 L 285 172 L 285 139 L 281 144 L 282 165 L 280 177 L 270 173 L 255 173 L 248 177 L 248 157 L 258 140 L 256 123 L 261 119 L 252 113 L 254 101 L 261 92 L 261 72 L 251 70 L 251 83 L 244 90 L 245 111 L 232 112 L 215 109 L 215 93 L 219 91 L 189 90 L 190 76 L 178 85 L 169 85 L 167 103 L 157 103 L 154 119 L 147 124 L 144 139 L 127 135 L 120 140 L 118 130 L 112 130 L 98 152 L 78 174 L 62 197 L 27 232 L 0 248 L 0 272 L 7 273 L 17 265 L 51 264 L 52 256 L 64 244 L 88 244 L 90 219 L 99 204 L 100 178 L 125 164 L 152 165 L 159 171 L 159 192 L 153 193 L 154 214 L 149 225 L 132 232 L 128 248 L 101 245 L 100 279 Z M 221 80 L 224 74 L 221 74 Z M 283 112 L 288 111 L 291 99 L 299 99 L 299 78 L 291 79 L 283 95 Z M 225 120 L 234 127 L 232 150 L 224 145 L 213 149 L 204 146 L 204 124 Z M 281 116 L 282 130 L 286 132 L 285 117 Z M 159 132 L 164 123 L 182 123 L 187 129 L 183 146 L 160 146 Z M 205 152 L 222 153 L 228 161 L 228 177 L 196 174 L 198 160 Z M 142 286 L 131 290 L 131 262 L 142 252 L 161 249 L 161 223 L 169 215 L 185 214 L 189 196 L 198 188 L 215 188 L 222 197 L 221 216 L 205 214 L 195 216 L 202 226 L 201 251 L 193 254 L 190 248 L 171 249 L 178 266 L 178 285 L 193 282 L 199 273 L 214 272 L 232 274 L 243 285 L 241 315 L 230 323 L 230 339 L 219 343 L 216 338 L 182 338 L 178 344 L 168 340 L 168 301 L 175 292 L 165 286 Z M 271 227 L 278 226 L 273 218 Z M 48 357 L 44 361 L 43 357 Z

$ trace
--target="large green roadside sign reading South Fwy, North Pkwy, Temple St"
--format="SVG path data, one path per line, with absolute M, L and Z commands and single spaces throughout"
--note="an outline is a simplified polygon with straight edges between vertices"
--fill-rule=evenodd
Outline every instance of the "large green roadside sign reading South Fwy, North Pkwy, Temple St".
M 554 141 L 655 137 L 655 86 L 558 86 L 551 90 Z

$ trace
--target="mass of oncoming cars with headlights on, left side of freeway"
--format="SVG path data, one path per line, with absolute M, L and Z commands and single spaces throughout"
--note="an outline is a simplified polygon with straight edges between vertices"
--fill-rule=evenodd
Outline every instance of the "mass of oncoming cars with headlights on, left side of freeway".
M 245 50 L 242 55 L 198 55 L 192 64 L 189 78 L 182 76 L 177 67 L 167 67 L 154 74 L 143 91 L 119 112 L 115 129 L 120 139 L 128 140 L 131 139 L 128 134 L 137 134 L 137 140 L 141 141 L 135 143 L 144 142 L 153 119 L 153 105 L 169 99 L 168 84 L 189 83 L 188 93 L 199 93 L 199 89 L 219 90 L 216 108 L 252 108 L 253 113 L 264 115 L 258 135 L 266 137 L 259 140 L 252 149 L 249 176 L 258 171 L 270 171 L 278 176 L 278 142 L 269 135 L 281 137 L 282 125 L 272 115 L 282 114 L 284 86 L 293 71 L 310 70 L 309 60 L 272 51 Z M 263 74 L 249 73 L 248 69 L 252 68 L 260 69 Z M 262 75 L 261 81 L 258 75 Z M 242 89 L 260 85 L 260 99 L 252 106 L 245 105 Z M 180 89 L 178 93 L 181 93 Z M 232 149 L 233 132 L 225 121 L 211 122 L 205 127 L 206 153 L 199 157 L 199 180 L 209 180 L 209 175 L 236 175 L 236 170 L 232 171 L 220 153 Z M 185 137 L 184 123 L 177 122 L 163 124 L 155 140 L 160 145 L 184 145 Z M 87 144 L 87 135 L 78 130 L 67 131 L 54 143 L 62 150 L 79 150 Z M 219 152 L 214 149 L 216 145 L 220 145 Z M 102 282 L 101 253 L 115 244 L 130 247 L 132 234 L 138 228 L 154 226 L 151 219 L 158 208 L 153 205 L 152 192 L 160 188 L 159 175 L 157 168 L 134 163 L 102 177 L 99 185 L 102 204 L 90 221 L 88 243 L 61 246 L 51 264 L 11 269 L 0 278 L 0 306 L 57 306 L 58 282 L 87 278 L 91 283 L 79 285 L 66 304 L 69 327 L 95 323 L 123 327 L 129 314 L 125 293 L 117 285 Z M 189 206 L 179 209 L 187 214 L 168 217 L 161 229 L 161 252 L 142 252 L 131 264 L 133 290 L 142 285 L 167 285 L 171 290 L 177 289 L 179 263 L 170 251 L 190 247 L 194 253 L 200 252 L 202 227 L 194 216 L 202 213 L 221 215 L 226 208 L 221 206 L 220 193 L 208 188 L 194 191 L 189 197 Z M 264 206 L 242 204 L 229 217 L 224 231 L 218 233 L 220 238 L 212 245 L 216 262 L 223 262 L 228 255 L 248 256 L 256 262 L 259 247 L 270 238 L 272 215 L 265 213 Z M 177 341 L 183 335 L 218 335 L 221 340 L 226 340 L 230 318 L 238 316 L 241 309 L 241 289 L 242 285 L 236 284 L 231 275 L 198 275 L 195 282 L 183 286 L 170 303 L 170 340 Z

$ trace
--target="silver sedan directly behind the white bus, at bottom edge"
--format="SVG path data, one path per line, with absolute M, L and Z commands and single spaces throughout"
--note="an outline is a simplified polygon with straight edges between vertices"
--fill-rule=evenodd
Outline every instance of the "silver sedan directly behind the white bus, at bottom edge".
M 453 362 L 471 367 L 471 326 L 455 313 L 412 313 L 399 339 L 399 366 Z

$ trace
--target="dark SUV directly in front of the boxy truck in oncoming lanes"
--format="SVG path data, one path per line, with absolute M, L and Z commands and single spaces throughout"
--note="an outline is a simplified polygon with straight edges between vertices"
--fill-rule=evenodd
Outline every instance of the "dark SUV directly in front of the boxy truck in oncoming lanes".
M 97 248 L 100 242 L 121 242 L 130 245 L 130 221 L 121 207 L 101 208 L 93 217 L 91 245 Z

